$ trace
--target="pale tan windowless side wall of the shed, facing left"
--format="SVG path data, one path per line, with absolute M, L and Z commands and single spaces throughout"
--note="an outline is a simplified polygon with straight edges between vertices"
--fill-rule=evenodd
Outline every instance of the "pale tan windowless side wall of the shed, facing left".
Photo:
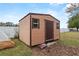
M 30 15 L 21 20 L 19 25 L 20 40 L 30 45 Z

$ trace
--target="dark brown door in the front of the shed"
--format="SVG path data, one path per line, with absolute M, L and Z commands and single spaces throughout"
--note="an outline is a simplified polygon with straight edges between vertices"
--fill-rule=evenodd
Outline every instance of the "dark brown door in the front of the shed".
M 45 20 L 45 40 L 53 40 L 53 21 Z

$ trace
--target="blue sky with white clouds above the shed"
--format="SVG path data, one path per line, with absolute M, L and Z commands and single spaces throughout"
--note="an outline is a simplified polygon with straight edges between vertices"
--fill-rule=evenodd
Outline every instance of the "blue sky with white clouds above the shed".
M 19 20 L 32 13 L 50 14 L 60 21 L 60 28 L 67 28 L 68 14 L 66 3 L 0 3 L 0 22 L 19 23 Z

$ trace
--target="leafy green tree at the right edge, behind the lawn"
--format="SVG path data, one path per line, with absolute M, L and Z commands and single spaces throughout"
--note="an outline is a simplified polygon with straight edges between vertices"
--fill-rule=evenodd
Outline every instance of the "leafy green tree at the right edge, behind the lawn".
M 76 28 L 78 31 L 78 29 L 79 29 L 79 14 L 69 18 L 68 28 Z

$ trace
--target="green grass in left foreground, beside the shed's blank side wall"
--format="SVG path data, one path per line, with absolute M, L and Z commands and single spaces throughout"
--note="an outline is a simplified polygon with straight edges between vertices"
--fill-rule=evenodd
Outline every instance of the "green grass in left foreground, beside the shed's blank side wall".
M 32 51 L 24 43 L 20 42 L 18 39 L 13 39 L 16 43 L 14 48 L 0 50 L 0 56 L 30 56 Z

